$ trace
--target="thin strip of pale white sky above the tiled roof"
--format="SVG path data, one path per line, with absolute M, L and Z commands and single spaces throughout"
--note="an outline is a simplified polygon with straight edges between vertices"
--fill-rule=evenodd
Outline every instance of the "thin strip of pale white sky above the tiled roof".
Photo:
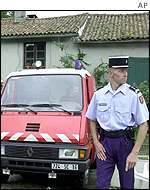
M 131 14 L 131 13 L 140 13 L 147 11 L 26 11 L 26 15 L 35 14 L 38 18 L 48 18 L 48 17 L 57 17 L 57 16 L 68 16 L 68 15 L 76 15 L 81 13 L 91 13 L 91 14 Z

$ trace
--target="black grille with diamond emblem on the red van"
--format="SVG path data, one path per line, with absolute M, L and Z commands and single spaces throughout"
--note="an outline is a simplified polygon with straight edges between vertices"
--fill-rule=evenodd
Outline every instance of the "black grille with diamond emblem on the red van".
M 33 159 L 57 159 L 58 148 L 44 146 L 6 146 L 6 156 Z

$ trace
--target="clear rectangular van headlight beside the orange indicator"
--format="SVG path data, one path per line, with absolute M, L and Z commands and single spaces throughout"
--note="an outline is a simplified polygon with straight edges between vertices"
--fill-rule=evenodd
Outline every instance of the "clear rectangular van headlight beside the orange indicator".
M 76 149 L 59 149 L 59 158 L 78 159 L 79 152 Z

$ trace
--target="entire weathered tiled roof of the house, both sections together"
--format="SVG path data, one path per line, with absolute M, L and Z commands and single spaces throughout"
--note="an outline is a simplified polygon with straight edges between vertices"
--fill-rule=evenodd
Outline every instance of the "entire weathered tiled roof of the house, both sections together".
M 26 18 L 20 23 L 4 18 L 1 20 L 1 37 L 78 34 L 82 27 L 82 34 L 79 36 L 82 42 L 149 39 L 149 13 Z

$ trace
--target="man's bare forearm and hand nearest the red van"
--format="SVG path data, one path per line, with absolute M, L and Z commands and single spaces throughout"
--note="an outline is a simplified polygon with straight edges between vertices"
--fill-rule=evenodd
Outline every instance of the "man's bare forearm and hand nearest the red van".
M 106 160 L 106 151 L 103 145 L 99 142 L 95 121 L 90 120 L 90 130 L 98 158 L 101 160 Z

